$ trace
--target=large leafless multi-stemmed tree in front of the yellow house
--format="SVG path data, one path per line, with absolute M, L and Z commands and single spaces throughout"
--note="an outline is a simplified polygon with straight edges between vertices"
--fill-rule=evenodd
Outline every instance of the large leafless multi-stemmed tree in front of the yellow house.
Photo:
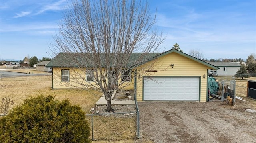
M 74 0 L 64 12 L 52 51 L 66 52 L 70 67 L 84 71 L 72 71 L 76 72 L 72 82 L 101 91 L 107 111 L 112 111 L 114 90 L 130 84 L 125 81 L 136 76 L 132 72 L 163 42 L 162 34 L 152 29 L 155 18 L 140 0 Z M 140 53 L 134 56 L 134 52 Z M 85 83 L 86 78 L 92 82 Z

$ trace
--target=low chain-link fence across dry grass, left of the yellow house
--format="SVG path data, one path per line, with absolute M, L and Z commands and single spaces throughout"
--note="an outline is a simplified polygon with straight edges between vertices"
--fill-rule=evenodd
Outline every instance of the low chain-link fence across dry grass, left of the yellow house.
M 22 76 L 2 76 L 0 75 L 0 81 L 50 81 L 52 80 L 52 74 L 46 75 L 22 75 Z

